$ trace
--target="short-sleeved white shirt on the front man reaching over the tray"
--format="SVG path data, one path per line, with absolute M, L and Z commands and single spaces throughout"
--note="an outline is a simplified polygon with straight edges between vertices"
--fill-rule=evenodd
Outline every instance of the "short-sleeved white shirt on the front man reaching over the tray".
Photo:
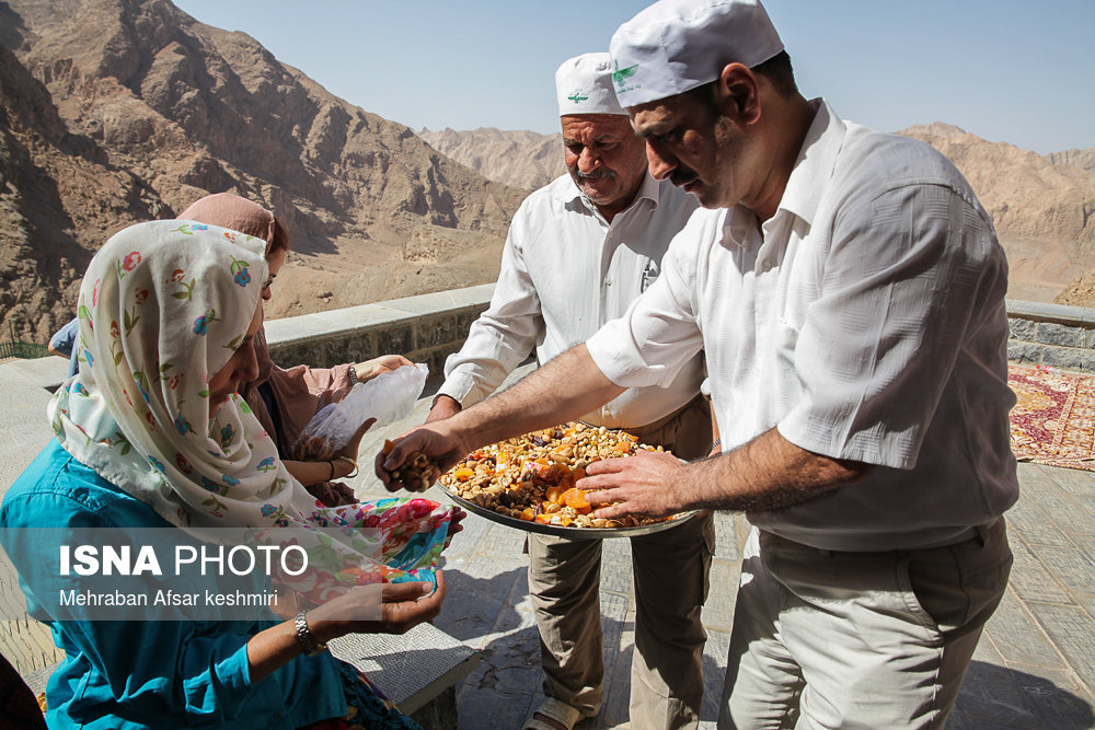
M 587 346 L 625 386 L 704 348 L 724 451 L 776 427 L 876 465 L 753 524 L 823 549 L 954 542 L 1018 494 L 1004 253 L 943 155 L 816 104 L 762 231 L 742 206 L 698 211 L 658 282 Z

